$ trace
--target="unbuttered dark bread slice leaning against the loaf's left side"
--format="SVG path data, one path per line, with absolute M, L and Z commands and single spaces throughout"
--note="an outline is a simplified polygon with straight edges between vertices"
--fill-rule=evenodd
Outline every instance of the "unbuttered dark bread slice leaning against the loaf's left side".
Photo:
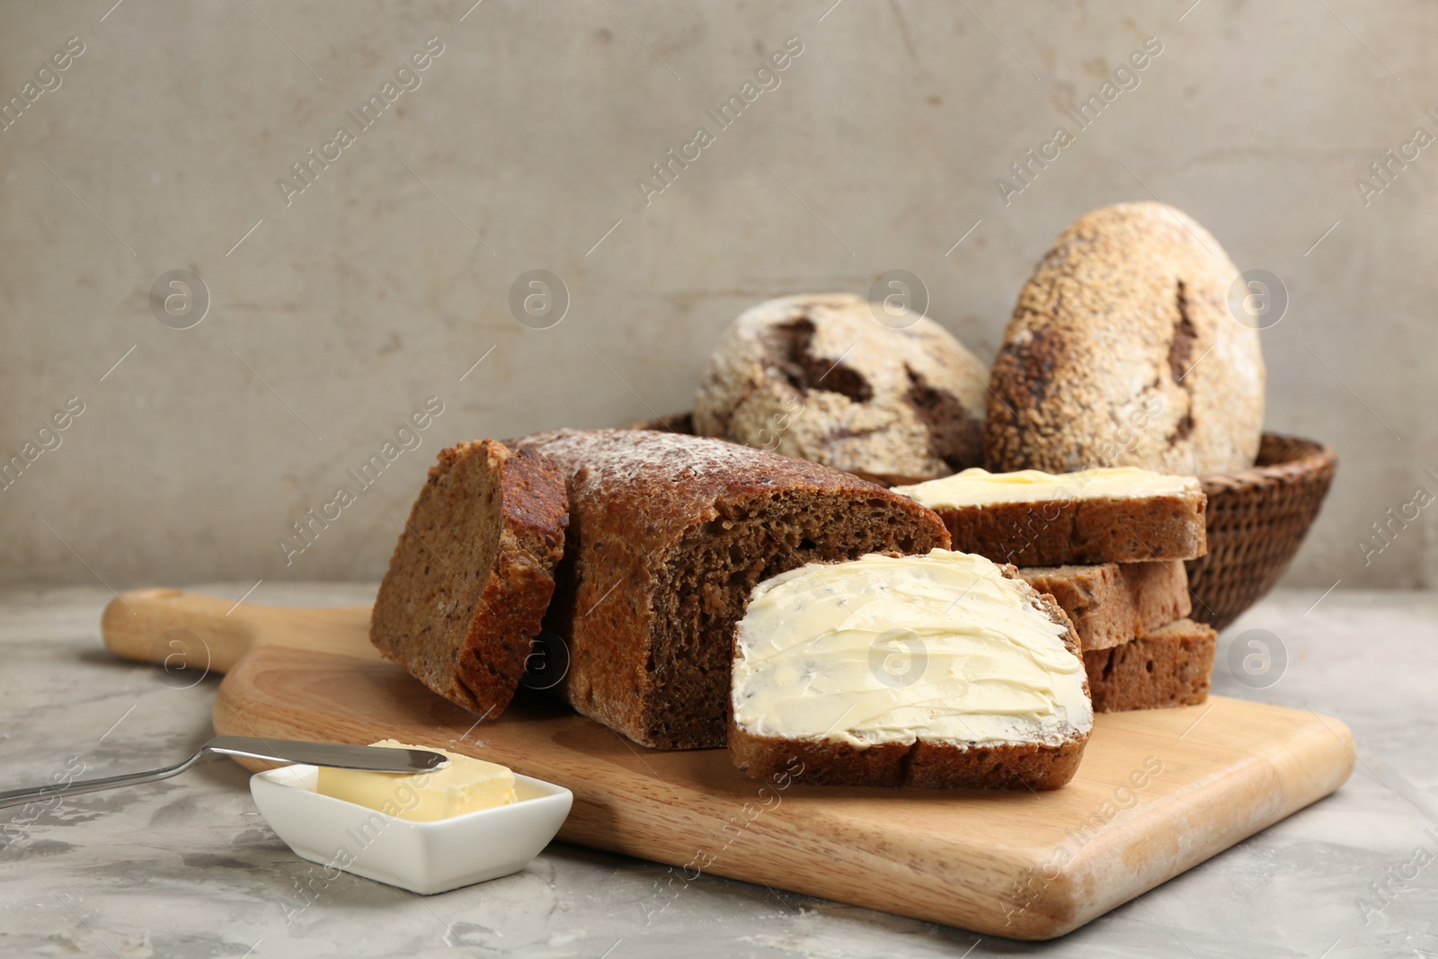
M 440 450 L 370 620 L 370 641 L 482 716 L 509 705 L 564 552 L 564 476 L 499 440 Z

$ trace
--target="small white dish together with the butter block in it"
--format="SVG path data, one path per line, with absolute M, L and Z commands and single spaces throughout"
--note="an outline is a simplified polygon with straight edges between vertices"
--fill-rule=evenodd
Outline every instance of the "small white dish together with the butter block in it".
M 374 743 L 397 746 L 394 740 Z M 275 834 L 301 858 L 316 863 L 331 880 L 336 870 L 398 886 L 421 894 L 443 893 L 518 873 L 555 837 L 574 795 L 544 779 L 512 774 L 434 746 L 450 762 L 429 774 L 429 784 L 401 784 L 383 795 L 378 786 L 341 778 L 339 792 L 374 801 L 380 809 L 319 791 L 321 778 L 335 769 L 282 766 L 250 776 L 250 795 Z M 472 765 L 475 763 L 475 765 Z M 495 771 L 503 771 L 499 775 Z M 450 782 L 441 776 L 454 776 Z M 391 781 L 421 775 L 375 774 Z M 450 785 L 446 785 L 450 782 Z M 335 781 L 331 779 L 331 788 Z M 500 786 L 499 784 L 508 784 Z M 418 799 L 398 797 L 413 789 Z M 469 802 L 498 798 L 500 805 L 462 811 Z M 393 801 L 391 812 L 384 811 Z M 406 811 L 403 807 L 410 805 Z M 454 812 L 416 820 L 414 812 Z M 393 812 L 408 812 L 401 817 Z

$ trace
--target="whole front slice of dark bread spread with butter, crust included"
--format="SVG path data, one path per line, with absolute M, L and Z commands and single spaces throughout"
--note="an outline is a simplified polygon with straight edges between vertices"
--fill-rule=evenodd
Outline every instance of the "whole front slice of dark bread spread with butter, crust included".
M 1012 566 L 935 549 L 761 582 L 729 756 L 814 785 L 1053 789 L 1093 728 L 1078 637 Z

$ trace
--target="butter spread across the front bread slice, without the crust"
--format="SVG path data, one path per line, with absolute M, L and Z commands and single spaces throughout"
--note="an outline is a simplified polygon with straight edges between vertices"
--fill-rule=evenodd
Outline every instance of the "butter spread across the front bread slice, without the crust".
M 810 564 L 739 621 L 733 723 L 756 736 L 1058 746 L 1093 726 L 1078 643 L 1012 566 L 935 549 Z

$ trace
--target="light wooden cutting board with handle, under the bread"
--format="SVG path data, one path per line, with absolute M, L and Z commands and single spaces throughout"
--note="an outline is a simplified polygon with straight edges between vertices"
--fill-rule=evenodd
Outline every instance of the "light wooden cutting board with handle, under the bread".
M 725 751 L 646 749 L 541 694 L 476 725 L 383 661 L 368 623 L 368 607 L 232 608 L 138 589 L 109 605 L 104 635 L 118 656 L 165 663 L 187 683 L 226 673 L 216 733 L 394 738 L 569 788 L 561 840 L 673 867 L 640 904 L 651 922 L 686 884 L 718 874 L 1048 939 L 1326 797 L 1356 758 L 1336 719 L 1212 697 L 1099 716 L 1078 775 L 1053 792 L 764 784 Z

